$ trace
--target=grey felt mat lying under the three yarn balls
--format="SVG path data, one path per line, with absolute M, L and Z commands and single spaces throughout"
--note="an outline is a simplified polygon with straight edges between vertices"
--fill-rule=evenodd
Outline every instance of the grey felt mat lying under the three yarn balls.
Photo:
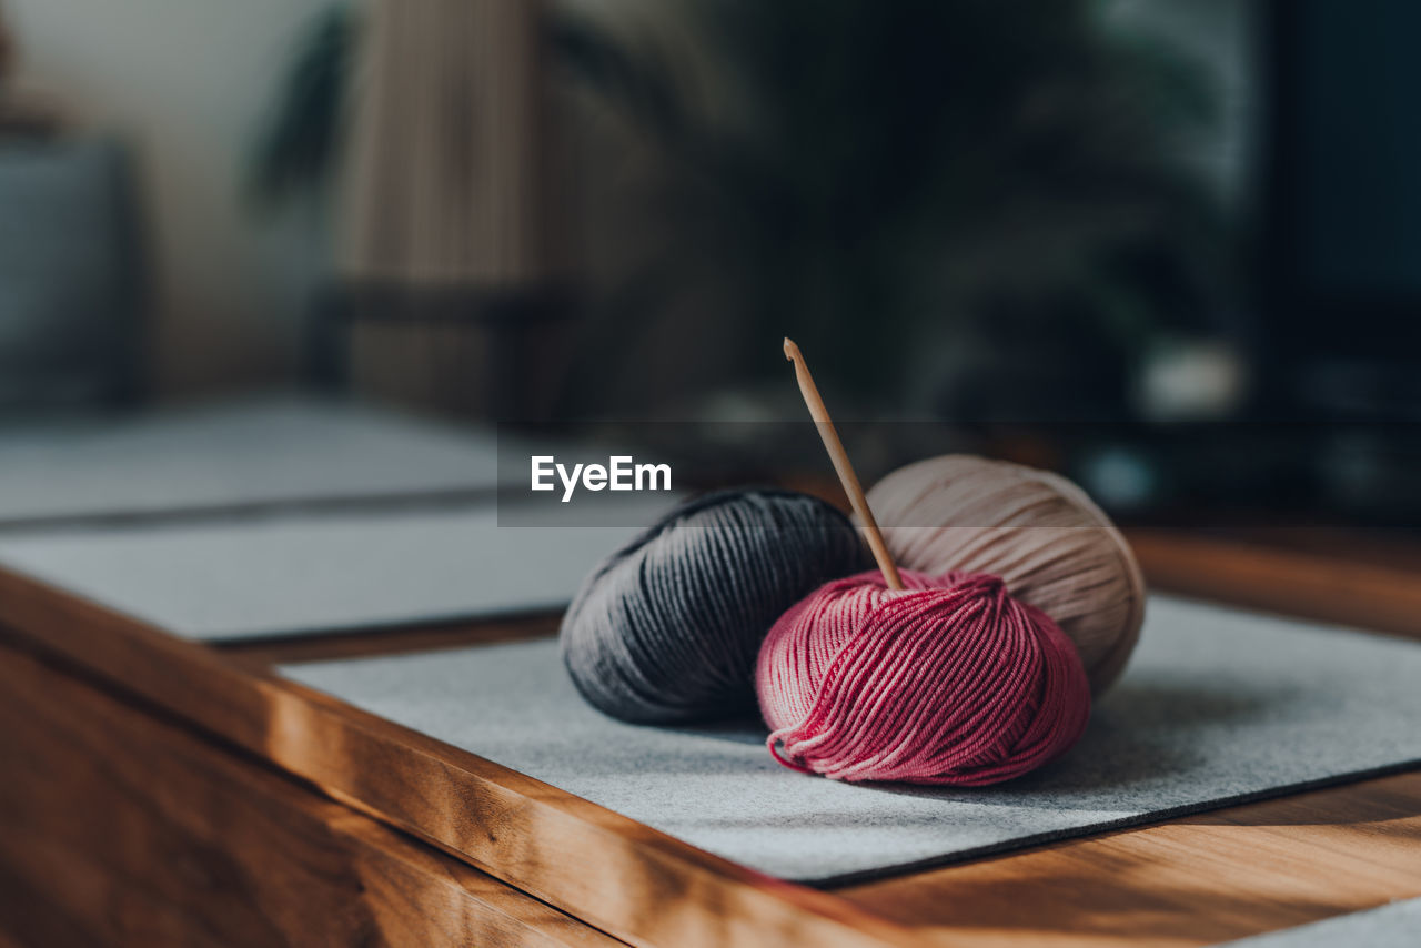
M 283 671 L 712 853 L 813 883 L 1421 760 L 1421 645 L 1162 597 L 1081 743 L 993 789 L 794 773 L 770 759 L 757 725 L 618 723 L 578 698 L 553 641 Z

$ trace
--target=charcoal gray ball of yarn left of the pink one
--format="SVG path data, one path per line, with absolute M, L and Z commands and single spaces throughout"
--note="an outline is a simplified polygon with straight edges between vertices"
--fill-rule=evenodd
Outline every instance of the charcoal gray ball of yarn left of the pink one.
M 563 661 L 612 718 L 753 713 L 755 659 L 784 610 L 872 564 L 843 513 L 794 490 L 722 490 L 612 553 L 563 617 Z

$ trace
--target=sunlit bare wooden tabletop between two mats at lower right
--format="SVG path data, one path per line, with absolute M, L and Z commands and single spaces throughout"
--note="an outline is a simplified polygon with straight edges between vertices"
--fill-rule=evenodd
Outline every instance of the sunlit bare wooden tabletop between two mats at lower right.
M 840 890 L 931 945 L 1206 945 L 1421 895 L 1421 773 Z

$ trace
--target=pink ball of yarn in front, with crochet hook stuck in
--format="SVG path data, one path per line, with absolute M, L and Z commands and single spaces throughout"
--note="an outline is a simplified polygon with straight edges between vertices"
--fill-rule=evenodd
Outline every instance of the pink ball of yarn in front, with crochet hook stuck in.
M 983 786 L 1069 749 L 1090 718 L 1071 641 L 995 576 L 877 570 L 821 586 L 756 665 L 770 753 L 834 780 Z

